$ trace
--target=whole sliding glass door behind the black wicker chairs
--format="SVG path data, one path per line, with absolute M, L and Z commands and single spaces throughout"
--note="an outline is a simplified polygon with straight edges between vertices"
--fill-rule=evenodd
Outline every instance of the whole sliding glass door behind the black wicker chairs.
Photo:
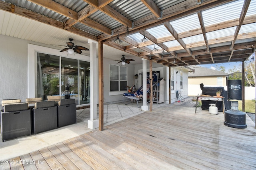
M 76 105 L 90 104 L 90 62 L 37 53 L 36 97 L 66 93 Z

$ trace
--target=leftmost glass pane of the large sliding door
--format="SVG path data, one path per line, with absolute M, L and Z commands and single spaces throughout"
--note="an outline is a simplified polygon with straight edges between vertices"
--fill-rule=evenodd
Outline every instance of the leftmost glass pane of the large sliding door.
M 37 53 L 37 94 L 47 96 L 60 94 L 60 57 Z

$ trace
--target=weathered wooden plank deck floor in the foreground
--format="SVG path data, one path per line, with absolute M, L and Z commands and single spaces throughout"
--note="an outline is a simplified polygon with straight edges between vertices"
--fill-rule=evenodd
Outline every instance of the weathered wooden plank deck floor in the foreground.
M 246 129 L 223 121 L 221 112 L 165 105 L 16 157 L 0 169 L 255 170 L 253 121 L 247 116 Z

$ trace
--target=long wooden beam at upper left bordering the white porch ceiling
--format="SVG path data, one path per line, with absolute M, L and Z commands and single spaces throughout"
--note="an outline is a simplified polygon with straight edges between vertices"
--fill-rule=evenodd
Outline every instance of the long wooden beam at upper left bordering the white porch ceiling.
M 54 27 L 57 27 L 59 29 L 63 29 L 63 23 L 57 20 L 54 20 L 52 18 L 43 16 L 41 14 L 37 14 L 35 12 L 32 12 L 30 10 L 26 10 L 24 8 L 20 8 L 18 6 L 13 6 L 12 4 L 8 4 L 6 2 L 0 1 L 0 9 L 1 10 L 5 10 L 7 12 L 12 12 L 12 7 L 14 8 L 14 14 L 17 14 L 19 16 L 25 17 L 25 18 L 29 18 L 31 20 L 35 20 L 41 23 L 45 23 L 47 25 L 51 25 Z M 80 29 L 77 29 L 75 27 L 70 27 L 68 29 L 65 29 L 66 31 L 75 33 L 77 35 L 80 35 L 82 37 L 86 37 L 92 40 L 97 40 L 97 37 L 90 34 L 90 33 L 86 33 L 85 31 L 82 31 Z

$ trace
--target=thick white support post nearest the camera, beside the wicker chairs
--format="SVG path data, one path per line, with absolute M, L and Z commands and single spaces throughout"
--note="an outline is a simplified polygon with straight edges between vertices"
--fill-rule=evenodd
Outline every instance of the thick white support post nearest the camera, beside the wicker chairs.
M 99 127 L 97 119 L 97 57 L 96 57 L 96 41 L 88 40 L 90 44 L 90 120 L 88 120 L 88 128 L 96 129 Z

